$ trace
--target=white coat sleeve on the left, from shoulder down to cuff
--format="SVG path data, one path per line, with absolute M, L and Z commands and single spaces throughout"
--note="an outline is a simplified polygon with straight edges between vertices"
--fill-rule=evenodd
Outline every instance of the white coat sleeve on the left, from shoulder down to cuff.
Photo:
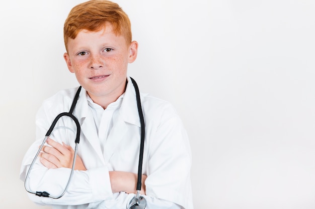
M 57 113 L 65 112 L 69 108 L 67 105 L 59 105 L 55 108 L 51 108 L 55 105 L 54 103 L 54 100 L 46 101 L 37 113 L 37 140 L 28 149 L 22 161 L 20 178 L 23 181 L 26 178 L 26 173 L 38 147 L 50 127 L 51 121 L 53 121 Z M 67 102 L 65 102 L 65 104 L 67 104 Z M 61 141 L 58 142 L 61 143 Z M 47 191 L 53 196 L 59 196 L 68 181 L 70 170 L 69 168 L 47 169 L 40 163 L 39 159 L 37 159 L 27 179 L 26 187 L 33 192 Z M 108 166 L 104 165 L 87 171 L 74 170 L 68 189 L 61 198 L 38 197 L 31 193 L 29 197 L 32 201 L 39 204 L 61 205 L 88 204 L 111 199 L 113 198 L 113 193 L 110 185 Z

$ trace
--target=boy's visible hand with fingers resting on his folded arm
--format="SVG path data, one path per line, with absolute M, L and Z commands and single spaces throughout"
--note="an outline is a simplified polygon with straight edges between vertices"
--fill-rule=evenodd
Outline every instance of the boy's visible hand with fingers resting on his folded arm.
M 48 138 L 50 146 L 43 146 L 39 154 L 40 162 L 47 168 L 72 168 L 74 150 L 71 146 L 62 144 Z M 80 156 L 76 155 L 74 170 L 87 170 Z

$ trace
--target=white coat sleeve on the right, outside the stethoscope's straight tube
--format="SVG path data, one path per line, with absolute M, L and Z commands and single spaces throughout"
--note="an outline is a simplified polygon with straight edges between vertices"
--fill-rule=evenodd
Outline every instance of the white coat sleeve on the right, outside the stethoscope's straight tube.
M 147 133 L 147 137 L 151 137 L 145 181 L 146 195 L 150 196 L 148 208 L 192 209 L 191 151 L 182 121 L 171 105 L 153 121 L 160 122 L 152 125 L 156 128 L 148 128 L 151 132 Z M 150 126 L 149 122 L 147 124 Z M 162 207 L 161 203 L 161 207 L 154 207 L 162 200 L 165 205 L 170 202 L 174 205 Z

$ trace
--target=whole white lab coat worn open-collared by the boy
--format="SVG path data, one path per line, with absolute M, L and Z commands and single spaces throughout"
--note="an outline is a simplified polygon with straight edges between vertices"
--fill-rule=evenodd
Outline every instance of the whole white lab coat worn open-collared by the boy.
M 36 116 L 36 141 L 28 149 L 22 162 L 20 178 L 26 172 L 53 119 L 68 112 L 77 88 L 62 90 L 44 101 Z M 192 209 L 190 181 L 191 152 L 186 131 L 175 109 L 168 102 L 141 94 L 145 119 L 145 144 L 142 174 L 145 180 L 146 209 Z M 114 112 L 112 129 L 104 147 L 101 147 L 93 115 L 89 109 L 87 93 L 82 89 L 73 112 L 81 125 L 81 139 L 77 154 L 87 171 L 75 170 L 66 193 L 59 199 L 29 194 L 39 204 L 53 208 L 127 208 L 134 194 L 112 193 L 109 171 L 120 170 L 137 173 L 140 145 L 140 122 L 135 90 L 128 78 L 120 108 Z M 68 117 L 58 125 L 75 130 Z M 101 127 L 100 127 L 101 128 Z M 60 134 L 62 135 L 62 134 Z M 74 138 L 53 138 L 72 146 Z M 104 151 L 102 151 L 102 149 Z M 47 191 L 58 196 L 69 176 L 68 168 L 47 169 L 37 159 L 31 170 L 27 186 L 32 191 Z

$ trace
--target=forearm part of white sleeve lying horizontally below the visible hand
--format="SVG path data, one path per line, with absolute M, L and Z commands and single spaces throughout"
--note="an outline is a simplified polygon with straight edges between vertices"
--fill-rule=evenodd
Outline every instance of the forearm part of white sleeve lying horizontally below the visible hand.
M 47 169 L 37 160 L 27 179 L 27 188 L 32 192 L 47 191 L 52 196 L 59 196 L 69 177 L 69 168 Z M 102 175 L 103 174 L 103 175 Z M 75 170 L 65 194 L 58 199 L 38 197 L 29 194 L 32 201 L 39 204 L 80 205 L 111 199 L 112 192 L 108 185 L 109 178 L 106 167 L 88 171 Z

